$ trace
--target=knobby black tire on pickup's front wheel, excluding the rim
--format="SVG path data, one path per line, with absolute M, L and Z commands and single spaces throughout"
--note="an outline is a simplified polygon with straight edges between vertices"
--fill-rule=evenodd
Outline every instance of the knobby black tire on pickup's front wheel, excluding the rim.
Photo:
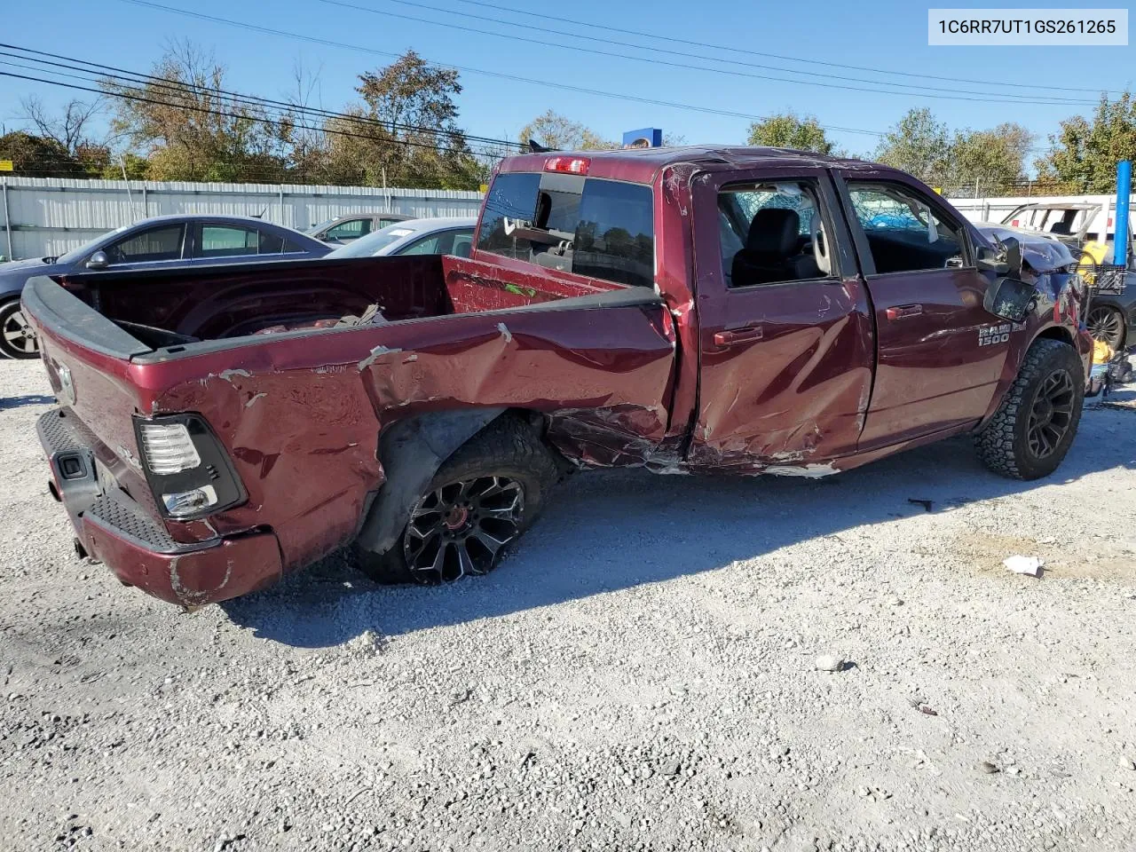
M 1055 449 L 1038 458 L 1029 449 L 1029 416 L 1042 384 L 1060 370 L 1068 371 L 1074 386 L 1070 423 Z M 1069 452 L 1080 423 L 1084 396 L 1084 366 L 1076 350 L 1062 341 L 1034 341 L 1002 404 L 975 435 L 978 458 L 994 473 L 1012 479 L 1039 479 L 1049 476 Z

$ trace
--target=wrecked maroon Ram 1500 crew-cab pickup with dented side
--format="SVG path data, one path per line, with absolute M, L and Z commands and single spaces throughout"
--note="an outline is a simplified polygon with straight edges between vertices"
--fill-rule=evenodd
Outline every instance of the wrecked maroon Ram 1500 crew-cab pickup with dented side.
M 186 607 L 343 546 L 484 574 L 575 468 L 826 476 L 971 433 L 1050 474 L 1087 289 L 910 176 L 778 149 L 507 159 L 468 259 L 36 278 L 76 551 Z

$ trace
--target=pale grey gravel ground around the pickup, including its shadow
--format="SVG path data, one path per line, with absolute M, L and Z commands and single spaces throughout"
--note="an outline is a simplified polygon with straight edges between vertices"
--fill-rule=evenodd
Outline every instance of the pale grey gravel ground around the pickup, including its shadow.
M 1134 849 L 1134 411 L 1041 483 L 578 476 L 488 577 L 185 615 L 76 561 L 48 393 L 0 362 L 3 850 Z

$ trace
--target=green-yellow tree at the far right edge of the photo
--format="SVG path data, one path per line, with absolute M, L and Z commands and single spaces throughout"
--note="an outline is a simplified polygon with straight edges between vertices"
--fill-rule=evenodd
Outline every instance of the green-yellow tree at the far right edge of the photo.
M 1039 179 L 1074 193 L 1114 191 L 1117 161 L 1136 159 L 1136 98 L 1127 90 L 1114 101 L 1102 94 L 1092 119 L 1066 119 L 1050 144 L 1035 162 Z

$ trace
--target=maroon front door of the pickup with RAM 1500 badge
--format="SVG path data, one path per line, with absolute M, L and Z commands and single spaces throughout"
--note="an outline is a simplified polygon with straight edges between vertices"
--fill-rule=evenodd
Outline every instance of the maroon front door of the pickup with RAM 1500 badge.
M 850 175 L 845 175 L 850 177 Z M 837 176 L 876 314 L 877 365 L 861 450 L 977 421 L 1010 348 L 963 220 L 894 175 Z

